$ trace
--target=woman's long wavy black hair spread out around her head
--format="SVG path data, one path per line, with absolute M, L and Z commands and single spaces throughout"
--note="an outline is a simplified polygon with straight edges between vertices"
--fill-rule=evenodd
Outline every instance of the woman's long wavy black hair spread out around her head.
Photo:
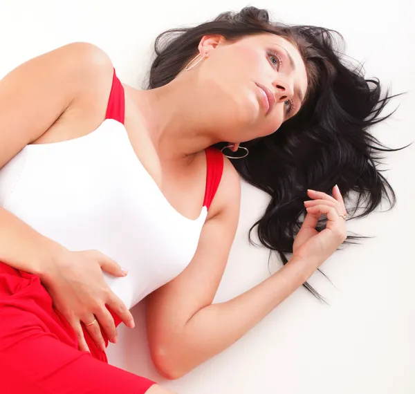
M 270 203 L 257 223 L 259 241 L 279 253 L 282 262 L 293 252 L 293 241 L 304 219 L 307 189 L 342 192 L 349 216 L 362 217 L 382 200 L 396 201 L 391 185 L 378 169 L 387 149 L 367 129 L 388 118 L 380 113 L 391 99 L 378 79 L 365 79 L 361 66 L 347 64 L 340 52 L 338 32 L 316 26 L 288 26 L 270 21 L 255 7 L 225 12 L 213 21 L 160 34 L 154 48 L 148 88 L 172 81 L 198 53 L 204 35 L 236 40 L 273 33 L 291 41 L 301 53 L 308 74 L 308 93 L 302 109 L 273 133 L 246 142 L 249 155 L 232 163 L 241 177 L 266 191 Z M 224 145 L 219 144 L 221 148 Z M 348 196 L 354 194 L 353 201 Z M 320 221 L 318 230 L 324 228 Z M 349 236 L 349 242 L 357 236 Z M 322 299 L 308 283 L 305 287 Z

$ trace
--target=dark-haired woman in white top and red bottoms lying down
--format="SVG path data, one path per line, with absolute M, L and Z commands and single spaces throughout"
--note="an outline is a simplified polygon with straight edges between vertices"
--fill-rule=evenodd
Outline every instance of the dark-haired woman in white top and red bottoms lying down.
M 250 7 L 169 34 L 156 41 L 147 91 L 122 85 L 107 55 L 82 43 L 1 81 L 5 393 L 168 393 L 107 364 L 116 325 L 133 327 L 128 308 L 149 296 L 152 359 L 179 377 L 237 341 L 345 241 L 340 190 L 366 198 L 364 214 L 394 197 L 366 131 L 387 98 L 340 62 L 331 32 L 272 24 Z M 231 162 L 218 147 L 244 157 Z M 270 194 L 259 236 L 285 265 L 212 305 L 239 175 Z

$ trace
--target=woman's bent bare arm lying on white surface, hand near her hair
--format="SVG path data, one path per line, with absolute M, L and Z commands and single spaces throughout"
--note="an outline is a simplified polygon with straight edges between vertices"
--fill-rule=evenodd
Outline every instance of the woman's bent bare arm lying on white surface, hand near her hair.
M 308 214 L 304 221 L 303 235 L 298 238 L 302 238 L 304 244 L 311 236 L 320 238 L 315 240 L 317 243 L 299 245 L 297 256 L 293 254 L 281 270 L 255 288 L 230 301 L 212 304 L 239 218 L 240 180 L 230 167 L 232 165 L 225 160 L 223 178 L 214 200 L 216 207 L 212 203 L 210 218 L 203 226 L 190 265 L 148 298 L 147 335 L 151 358 L 167 379 L 185 375 L 232 345 L 299 288 L 344 241 L 344 220 L 333 211 L 324 212 L 334 208 L 324 203 L 316 204 L 311 208 L 313 213 Z M 322 198 L 322 194 L 313 198 Z M 315 236 L 310 232 L 322 213 L 328 214 L 330 223 L 327 227 L 331 225 L 331 229 Z M 322 242 L 328 245 L 323 253 L 320 252 Z M 319 252 L 315 253 L 314 248 Z M 304 259 L 304 253 L 311 257 Z

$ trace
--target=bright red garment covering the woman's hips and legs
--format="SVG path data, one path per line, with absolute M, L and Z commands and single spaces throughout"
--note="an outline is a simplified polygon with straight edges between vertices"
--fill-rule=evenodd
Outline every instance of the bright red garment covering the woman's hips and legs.
M 0 262 L 2 394 L 145 393 L 154 384 L 107 364 L 86 332 L 91 355 L 52 306 L 39 277 Z

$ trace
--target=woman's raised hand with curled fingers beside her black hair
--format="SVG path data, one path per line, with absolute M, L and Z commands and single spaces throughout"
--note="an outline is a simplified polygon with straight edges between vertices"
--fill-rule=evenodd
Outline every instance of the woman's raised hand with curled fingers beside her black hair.
M 308 190 L 313 200 L 304 202 L 307 210 L 304 223 L 299 229 L 293 244 L 293 256 L 315 264 L 318 268 L 346 240 L 346 207 L 340 190 L 333 187 L 333 197 L 322 191 Z M 317 232 L 320 216 L 327 216 L 326 228 Z

